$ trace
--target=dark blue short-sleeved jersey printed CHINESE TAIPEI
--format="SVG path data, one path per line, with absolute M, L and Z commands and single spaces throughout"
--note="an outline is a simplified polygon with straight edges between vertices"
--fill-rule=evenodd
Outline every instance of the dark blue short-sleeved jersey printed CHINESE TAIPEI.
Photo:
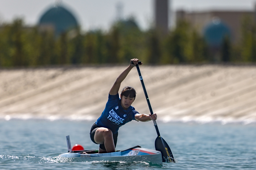
M 127 122 L 135 120 L 135 115 L 139 114 L 134 107 L 130 106 L 124 110 L 121 106 L 119 94 L 110 95 L 104 111 L 95 122 L 99 127 L 109 128 L 113 134 L 117 133 L 119 127 Z

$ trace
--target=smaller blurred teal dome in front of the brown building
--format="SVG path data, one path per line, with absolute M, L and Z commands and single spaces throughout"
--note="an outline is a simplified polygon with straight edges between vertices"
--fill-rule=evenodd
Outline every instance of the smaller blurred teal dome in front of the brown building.
M 225 36 L 230 37 L 231 32 L 229 27 L 220 20 L 213 20 L 204 29 L 205 40 L 210 46 L 220 47 Z

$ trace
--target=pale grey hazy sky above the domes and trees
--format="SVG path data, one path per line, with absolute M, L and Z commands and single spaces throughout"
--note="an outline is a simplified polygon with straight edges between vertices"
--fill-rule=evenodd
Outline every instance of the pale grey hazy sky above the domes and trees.
M 170 26 L 173 25 L 174 12 L 207 10 L 254 10 L 256 0 L 170 0 Z M 11 22 L 19 17 L 26 25 L 35 25 L 40 16 L 54 6 L 56 0 L 0 0 L 0 24 Z M 121 4 L 123 19 L 134 17 L 143 30 L 154 21 L 154 0 L 61 0 L 77 17 L 82 30 L 108 30 L 117 19 L 117 5 Z

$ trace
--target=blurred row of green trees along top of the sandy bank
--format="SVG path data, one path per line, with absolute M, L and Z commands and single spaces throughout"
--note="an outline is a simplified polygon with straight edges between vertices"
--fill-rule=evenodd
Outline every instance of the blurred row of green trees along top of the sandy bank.
M 0 27 L 0 66 L 127 63 L 131 58 L 149 64 L 255 63 L 256 26 L 252 19 L 243 20 L 241 34 L 236 44 L 229 37 L 223 38 L 213 53 L 204 37 L 182 20 L 166 36 L 122 21 L 108 32 L 77 29 L 56 36 L 37 26 L 25 27 L 22 19 L 15 19 Z

